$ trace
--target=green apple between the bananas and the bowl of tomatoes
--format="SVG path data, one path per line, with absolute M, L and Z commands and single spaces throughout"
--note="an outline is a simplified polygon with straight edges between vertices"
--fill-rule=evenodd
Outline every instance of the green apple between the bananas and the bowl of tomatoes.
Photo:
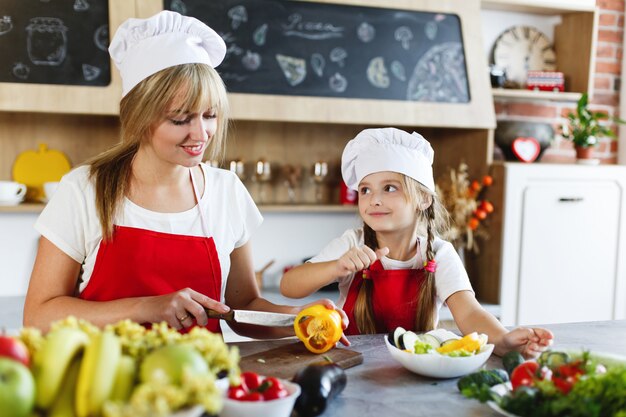
M 168 345 L 150 352 L 141 363 L 141 382 L 154 379 L 166 380 L 180 385 L 183 370 L 191 375 L 209 372 L 209 366 L 196 349 L 188 345 Z

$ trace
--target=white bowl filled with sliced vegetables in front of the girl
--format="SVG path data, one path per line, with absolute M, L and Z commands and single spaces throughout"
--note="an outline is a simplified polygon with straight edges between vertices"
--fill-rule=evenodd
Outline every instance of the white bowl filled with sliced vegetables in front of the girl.
M 431 378 L 456 378 L 489 359 L 494 345 L 476 332 L 463 337 L 445 329 L 415 333 L 401 327 L 385 336 L 391 357 L 411 372 Z

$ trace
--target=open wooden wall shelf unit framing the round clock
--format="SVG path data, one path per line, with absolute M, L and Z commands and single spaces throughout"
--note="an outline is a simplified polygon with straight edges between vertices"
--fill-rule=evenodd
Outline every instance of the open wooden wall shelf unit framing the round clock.
M 582 93 L 593 95 L 598 27 L 595 0 L 482 0 L 481 7 L 483 11 L 523 13 L 554 21 L 557 71 L 565 76 L 564 93 L 495 88 L 494 98 L 577 101 Z M 506 15 L 500 17 L 508 20 Z

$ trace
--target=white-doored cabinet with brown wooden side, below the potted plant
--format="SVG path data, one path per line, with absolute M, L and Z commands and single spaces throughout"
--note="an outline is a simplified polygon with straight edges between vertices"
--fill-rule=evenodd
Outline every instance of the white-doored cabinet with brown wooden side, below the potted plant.
M 626 167 L 505 163 L 493 175 L 500 214 L 473 259 L 479 297 L 507 325 L 626 318 Z

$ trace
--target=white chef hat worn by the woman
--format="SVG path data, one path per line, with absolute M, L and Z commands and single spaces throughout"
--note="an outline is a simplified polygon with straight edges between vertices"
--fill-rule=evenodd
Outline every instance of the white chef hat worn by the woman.
M 113 36 L 109 53 L 122 76 L 122 96 L 162 69 L 201 63 L 217 67 L 224 40 L 193 17 L 164 10 L 147 19 L 131 18 Z

